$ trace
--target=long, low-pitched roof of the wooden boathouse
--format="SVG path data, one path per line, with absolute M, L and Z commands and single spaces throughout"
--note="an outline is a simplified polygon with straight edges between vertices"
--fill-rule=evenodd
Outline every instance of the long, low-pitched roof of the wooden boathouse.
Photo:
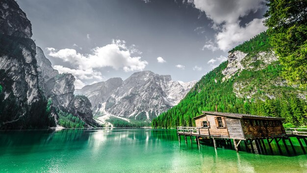
M 202 111 L 202 112 L 203 112 L 202 115 L 195 116 L 194 119 L 201 118 L 205 115 L 220 115 L 220 116 L 233 117 L 233 118 L 268 119 L 268 120 L 284 120 L 285 119 L 281 117 L 259 116 L 259 115 L 248 115 L 248 114 L 219 113 L 219 112 L 210 112 L 210 111 Z

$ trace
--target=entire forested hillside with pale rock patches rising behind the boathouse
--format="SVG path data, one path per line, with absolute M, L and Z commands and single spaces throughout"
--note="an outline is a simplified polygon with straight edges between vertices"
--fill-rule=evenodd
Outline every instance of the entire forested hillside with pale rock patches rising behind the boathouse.
M 272 57 L 268 40 L 266 33 L 260 33 L 235 47 L 230 54 L 245 53 L 240 61 L 245 68 L 227 79 L 223 70 L 230 68 L 229 62 L 221 63 L 203 76 L 177 106 L 153 119 L 152 127 L 195 126 L 192 118 L 201 111 L 215 111 L 216 104 L 219 112 L 284 117 L 286 126 L 306 126 L 307 89 L 287 85 L 281 78 L 279 61 L 255 58 Z

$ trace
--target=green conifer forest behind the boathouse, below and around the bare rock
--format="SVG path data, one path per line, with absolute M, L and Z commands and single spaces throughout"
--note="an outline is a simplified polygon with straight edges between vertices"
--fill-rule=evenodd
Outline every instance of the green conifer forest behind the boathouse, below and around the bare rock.
M 201 115 L 201 111 L 215 111 L 216 104 L 219 112 L 284 117 L 286 123 L 295 126 L 307 124 L 307 102 L 297 97 L 300 90 L 272 84 L 281 75 L 282 67 L 278 62 L 263 70 L 243 70 L 240 75 L 222 82 L 222 70 L 227 64 L 223 62 L 203 76 L 178 105 L 153 119 L 152 127 L 195 126 L 192 118 Z M 257 93 L 252 98 L 237 97 L 233 92 L 235 82 L 248 83 L 247 87 L 242 88 L 243 92 L 251 93 L 256 89 Z M 270 99 L 267 94 L 275 98 Z

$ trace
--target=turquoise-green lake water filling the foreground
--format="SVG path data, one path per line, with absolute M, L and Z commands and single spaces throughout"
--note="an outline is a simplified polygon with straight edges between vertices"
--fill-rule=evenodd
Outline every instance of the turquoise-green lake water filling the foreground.
M 307 173 L 307 155 L 297 152 L 236 153 L 183 138 L 179 145 L 176 130 L 1 131 L 0 173 Z

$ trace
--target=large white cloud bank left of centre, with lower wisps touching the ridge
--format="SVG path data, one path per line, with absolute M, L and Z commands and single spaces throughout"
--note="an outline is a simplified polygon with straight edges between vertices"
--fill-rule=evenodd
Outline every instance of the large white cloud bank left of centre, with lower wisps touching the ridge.
M 62 65 L 54 65 L 53 68 L 60 73 L 71 73 L 77 80 L 101 81 L 104 77 L 98 70 L 103 67 L 112 67 L 116 70 L 122 69 L 125 72 L 129 72 L 143 70 L 148 64 L 147 61 L 141 60 L 141 57 L 133 56 L 133 53 L 139 51 L 134 46 L 126 46 L 126 42 L 122 40 L 113 40 L 111 44 L 96 47 L 92 49 L 92 53 L 85 55 L 77 53 L 75 49 L 46 49 L 49 51 L 49 56 L 60 58 L 74 67 L 72 69 Z M 77 83 L 82 86 L 80 82 Z

